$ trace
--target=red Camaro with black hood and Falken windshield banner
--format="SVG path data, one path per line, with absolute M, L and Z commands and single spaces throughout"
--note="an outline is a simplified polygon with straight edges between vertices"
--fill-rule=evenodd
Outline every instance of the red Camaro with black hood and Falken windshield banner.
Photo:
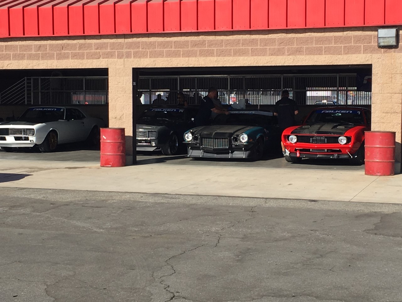
M 370 130 L 371 112 L 366 108 L 327 107 L 312 111 L 301 126 L 285 129 L 285 159 L 299 163 L 303 157 L 349 158 L 364 163 L 364 131 Z

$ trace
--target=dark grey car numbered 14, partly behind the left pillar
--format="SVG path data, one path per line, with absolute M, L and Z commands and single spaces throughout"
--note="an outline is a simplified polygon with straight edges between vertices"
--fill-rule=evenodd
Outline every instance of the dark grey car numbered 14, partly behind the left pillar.
M 137 151 L 162 150 L 164 155 L 180 151 L 184 132 L 194 127 L 197 109 L 153 107 L 137 120 Z

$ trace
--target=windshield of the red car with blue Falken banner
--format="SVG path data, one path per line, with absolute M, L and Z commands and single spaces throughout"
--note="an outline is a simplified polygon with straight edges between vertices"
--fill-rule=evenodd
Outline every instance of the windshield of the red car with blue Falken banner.
M 364 124 L 363 112 L 361 110 L 316 110 L 308 117 L 306 124 L 316 123 L 361 125 Z

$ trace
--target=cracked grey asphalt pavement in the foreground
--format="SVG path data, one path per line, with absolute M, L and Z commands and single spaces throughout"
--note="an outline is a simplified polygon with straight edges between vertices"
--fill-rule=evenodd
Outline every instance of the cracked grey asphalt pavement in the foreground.
M 2 302 L 402 301 L 402 206 L 0 188 Z

